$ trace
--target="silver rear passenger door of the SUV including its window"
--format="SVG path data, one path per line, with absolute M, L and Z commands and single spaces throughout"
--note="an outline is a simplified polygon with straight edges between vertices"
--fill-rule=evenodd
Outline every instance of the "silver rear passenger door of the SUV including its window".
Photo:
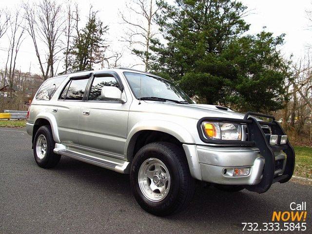
M 73 77 L 59 96 L 54 110 L 62 143 L 78 145 L 80 107 L 90 76 Z

